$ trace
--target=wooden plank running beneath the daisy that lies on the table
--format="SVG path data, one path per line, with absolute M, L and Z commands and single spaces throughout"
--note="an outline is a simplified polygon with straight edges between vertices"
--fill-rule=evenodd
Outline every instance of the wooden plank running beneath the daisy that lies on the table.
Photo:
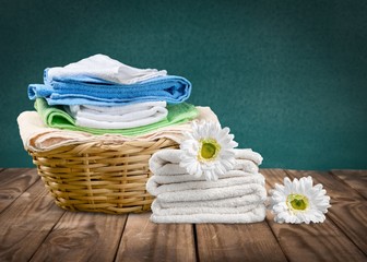
M 261 172 L 267 178 L 268 190 L 274 188 L 275 182 L 283 183 L 285 176 L 292 177 L 281 169 L 262 169 Z M 299 175 L 303 174 L 298 172 L 297 177 Z M 324 187 L 329 193 L 329 184 Z M 267 221 L 289 261 L 366 261 L 366 255 L 330 217 L 321 224 L 277 224 L 268 212 Z

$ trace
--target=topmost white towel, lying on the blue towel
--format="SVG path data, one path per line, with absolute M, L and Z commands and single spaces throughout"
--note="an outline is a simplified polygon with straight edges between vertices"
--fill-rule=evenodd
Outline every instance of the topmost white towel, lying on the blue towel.
M 49 80 L 84 75 L 119 84 L 134 84 L 149 79 L 167 75 L 167 71 L 133 68 L 108 56 L 98 53 L 66 67 L 50 68 L 47 70 L 47 75 Z

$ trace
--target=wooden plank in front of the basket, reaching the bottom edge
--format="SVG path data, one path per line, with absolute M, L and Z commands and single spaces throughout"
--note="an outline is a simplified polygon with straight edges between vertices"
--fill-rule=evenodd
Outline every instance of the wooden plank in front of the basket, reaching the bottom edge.
M 127 215 L 66 212 L 31 261 L 114 261 Z

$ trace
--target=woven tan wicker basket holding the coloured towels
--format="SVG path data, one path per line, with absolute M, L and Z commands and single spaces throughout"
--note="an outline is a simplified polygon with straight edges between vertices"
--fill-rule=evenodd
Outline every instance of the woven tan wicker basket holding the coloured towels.
M 46 188 L 62 209 L 113 214 L 151 210 L 145 190 L 149 159 L 163 148 L 177 148 L 168 139 L 105 144 L 92 142 L 31 152 Z

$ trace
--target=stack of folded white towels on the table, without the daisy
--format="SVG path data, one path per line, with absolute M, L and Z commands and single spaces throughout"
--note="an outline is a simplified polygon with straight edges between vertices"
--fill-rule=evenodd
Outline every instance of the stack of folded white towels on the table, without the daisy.
M 236 165 L 217 181 L 188 175 L 180 150 L 162 150 L 150 159 L 146 190 L 155 195 L 155 223 L 254 223 L 265 217 L 267 191 L 260 154 L 234 150 Z

